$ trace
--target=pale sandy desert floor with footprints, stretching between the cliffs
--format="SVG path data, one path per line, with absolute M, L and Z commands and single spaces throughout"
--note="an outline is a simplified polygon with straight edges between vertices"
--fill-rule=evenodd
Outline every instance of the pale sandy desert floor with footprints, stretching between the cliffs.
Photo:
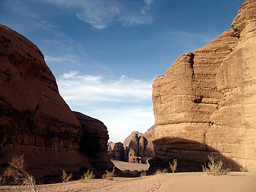
M 114 162 L 121 170 L 145 170 L 147 165 Z M 139 166 L 139 167 L 138 167 Z M 19 186 L 0 186 L 0 192 L 18 192 Z M 29 192 L 29 190 L 22 190 Z M 230 172 L 208 176 L 198 173 L 165 173 L 140 178 L 87 179 L 85 182 L 40 185 L 40 192 L 256 192 L 256 173 Z

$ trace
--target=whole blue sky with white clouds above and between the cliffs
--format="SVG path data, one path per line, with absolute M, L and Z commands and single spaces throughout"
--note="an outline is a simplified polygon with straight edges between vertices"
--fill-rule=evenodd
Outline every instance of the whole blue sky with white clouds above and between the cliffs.
M 154 124 L 152 83 L 230 29 L 241 0 L 1 0 L 0 23 L 43 52 L 70 108 L 110 141 Z

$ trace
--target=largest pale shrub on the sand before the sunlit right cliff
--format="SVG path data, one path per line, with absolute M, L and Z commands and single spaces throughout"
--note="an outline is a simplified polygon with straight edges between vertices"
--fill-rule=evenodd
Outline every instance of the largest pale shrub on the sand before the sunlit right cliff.
M 210 160 L 210 162 L 208 163 L 208 167 L 206 168 L 206 163 L 205 166 L 202 165 L 203 167 L 203 172 L 205 172 L 206 174 L 211 174 L 211 175 L 220 175 L 220 174 L 228 174 L 230 171 L 230 168 L 226 168 L 226 169 L 222 169 L 222 161 L 219 160 L 217 163 L 214 162 L 214 158 L 211 157 L 210 155 L 208 155 L 208 159 Z

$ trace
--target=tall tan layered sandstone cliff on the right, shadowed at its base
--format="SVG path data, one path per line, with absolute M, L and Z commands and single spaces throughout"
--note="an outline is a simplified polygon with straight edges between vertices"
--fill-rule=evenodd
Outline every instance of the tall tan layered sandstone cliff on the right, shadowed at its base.
M 255 94 L 256 1 L 247 0 L 232 29 L 155 79 L 155 156 L 177 158 L 180 171 L 202 170 L 208 154 L 256 171 Z

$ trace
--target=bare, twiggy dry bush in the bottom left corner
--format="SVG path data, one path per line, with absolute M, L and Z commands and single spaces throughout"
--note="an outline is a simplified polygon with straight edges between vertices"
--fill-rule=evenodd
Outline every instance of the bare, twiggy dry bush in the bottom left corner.
M 19 186 L 26 186 L 28 189 L 38 192 L 40 188 L 35 184 L 35 179 L 32 175 L 27 173 L 24 164 L 24 155 L 20 157 L 13 157 L 9 166 L 5 170 L 5 177 L 13 178 L 13 183 Z

